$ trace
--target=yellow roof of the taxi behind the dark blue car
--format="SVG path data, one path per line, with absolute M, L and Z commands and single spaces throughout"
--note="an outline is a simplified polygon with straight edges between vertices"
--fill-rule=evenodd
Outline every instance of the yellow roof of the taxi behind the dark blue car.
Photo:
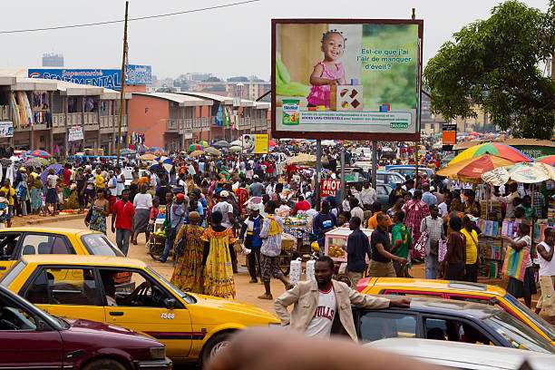
M 488 284 L 469 283 L 465 281 L 450 280 L 433 280 L 426 278 L 405 278 L 405 277 L 376 277 L 374 287 L 384 288 L 410 288 L 410 289 L 426 289 L 437 291 L 460 291 L 464 293 L 490 293 L 496 296 L 504 297 L 507 293 L 502 287 L 496 287 Z

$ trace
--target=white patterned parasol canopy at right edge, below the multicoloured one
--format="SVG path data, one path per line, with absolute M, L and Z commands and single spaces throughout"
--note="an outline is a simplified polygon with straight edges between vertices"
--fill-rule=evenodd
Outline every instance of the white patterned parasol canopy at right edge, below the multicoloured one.
M 482 180 L 494 186 L 501 186 L 508 180 L 534 184 L 545 180 L 555 180 L 555 170 L 549 164 L 523 162 L 488 171 L 482 174 Z

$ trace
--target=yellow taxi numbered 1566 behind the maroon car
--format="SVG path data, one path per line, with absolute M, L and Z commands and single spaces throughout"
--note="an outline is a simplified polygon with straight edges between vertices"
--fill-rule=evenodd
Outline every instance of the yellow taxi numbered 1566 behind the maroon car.
M 122 273 L 131 275 L 131 284 L 114 281 Z M 228 346 L 233 331 L 279 323 L 258 307 L 181 292 L 131 258 L 24 256 L 0 285 L 54 316 L 110 323 L 152 336 L 174 362 L 205 362 Z

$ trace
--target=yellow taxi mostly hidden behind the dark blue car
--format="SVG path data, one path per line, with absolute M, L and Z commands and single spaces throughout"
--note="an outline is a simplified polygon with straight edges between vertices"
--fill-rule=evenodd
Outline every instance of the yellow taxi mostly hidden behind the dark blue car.
M 365 294 L 438 297 L 501 307 L 530 326 L 555 346 L 555 330 L 547 321 L 531 312 L 517 298 L 502 287 L 464 281 L 430 280 L 404 277 L 365 277 L 358 281 L 356 290 Z

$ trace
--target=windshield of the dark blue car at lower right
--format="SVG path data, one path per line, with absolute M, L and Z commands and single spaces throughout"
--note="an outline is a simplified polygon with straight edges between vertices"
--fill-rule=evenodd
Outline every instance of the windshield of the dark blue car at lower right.
M 553 354 L 553 346 L 543 336 L 506 312 L 486 317 L 482 321 L 505 338 L 512 347 Z

